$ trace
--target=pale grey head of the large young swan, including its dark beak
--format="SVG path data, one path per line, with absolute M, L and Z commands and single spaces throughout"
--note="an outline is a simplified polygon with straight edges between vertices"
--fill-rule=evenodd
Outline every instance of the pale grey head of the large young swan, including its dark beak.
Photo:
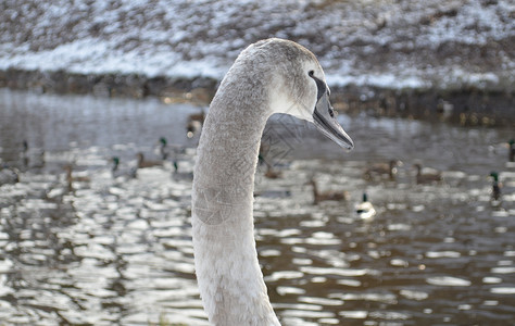
M 354 147 L 338 123 L 337 113 L 329 102 L 330 90 L 324 71 L 310 50 L 276 38 L 256 42 L 249 49 L 269 62 L 272 113 L 287 113 L 309 121 L 342 148 L 351 150 Z

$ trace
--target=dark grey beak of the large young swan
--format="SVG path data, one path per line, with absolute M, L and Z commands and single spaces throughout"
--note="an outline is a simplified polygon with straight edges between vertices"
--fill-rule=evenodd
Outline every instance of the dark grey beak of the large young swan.
M 336 112 L 329 103 L 327 92 L 316 102 L 315 111 L 313 112 L 313 122 L 322 134 L 326 135 L 342 148 L 348 150 L 354 148 L 354 141 L 352 141 L 351 137 L 347 135 L 346 130 L 343 130 L 336 120 Z

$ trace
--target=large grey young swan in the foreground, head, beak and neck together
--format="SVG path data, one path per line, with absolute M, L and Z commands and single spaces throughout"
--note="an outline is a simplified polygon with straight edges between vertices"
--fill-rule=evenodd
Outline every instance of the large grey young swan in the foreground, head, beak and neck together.
M 274 113 L 313 122 L 340 146 L 353 147 L 314 54 L 280 39 L 240 53 L 211 102 L 193 173 L 196 273 L 213 325 L 279 325 L 258 262 L 252 215 L 261 137 Z

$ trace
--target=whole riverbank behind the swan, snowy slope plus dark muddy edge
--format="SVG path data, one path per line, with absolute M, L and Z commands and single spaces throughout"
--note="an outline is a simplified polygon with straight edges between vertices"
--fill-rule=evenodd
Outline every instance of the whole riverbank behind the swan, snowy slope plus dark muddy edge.
M 205 105 L 238 53 L 294 40 L 341 112 L 514 125 L 508 0 L 20 0 L 0 4 L 0 87 Z

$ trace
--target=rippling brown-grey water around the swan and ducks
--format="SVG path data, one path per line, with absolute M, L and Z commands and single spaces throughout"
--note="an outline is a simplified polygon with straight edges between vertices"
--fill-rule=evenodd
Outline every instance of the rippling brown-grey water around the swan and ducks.
M 0 158 L 20 170 L 20 183 L 0 186 L 1 323 L 206 324 L 189 217 L 198 138 L 186 137 L 200 110 L 0 90 Z M 265 130 L 281 177 L 258 172 L 255 233 L 281 323 L 513 323 L 515 166 L 503 146 L 513 130 L 340 120 L 355 141 L 349 153 L 289 117 Z M 137 152 L 159 156 L 160 137 L 177 149 L 178 173 L 168 160 L 130 178 Z M 112 176 L 113 155 L 125 176 Z M 395 180 L 363 177 L 391 159 L 403 163 Z M 417 162 L 443 181 L 417 185 Z M 491 171 L 504 186 L 500 202 Z M 349 199 L 313 204 L 311 179 Z M 354 212 L 364 191 L 377 211 L 366 221 Z

